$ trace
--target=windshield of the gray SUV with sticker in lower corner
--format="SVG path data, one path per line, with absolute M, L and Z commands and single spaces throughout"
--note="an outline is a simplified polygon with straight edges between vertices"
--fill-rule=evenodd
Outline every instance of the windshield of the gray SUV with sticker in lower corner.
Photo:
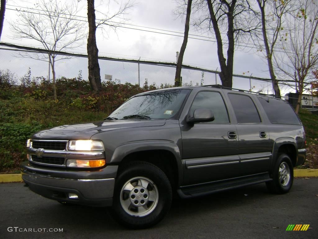
M 109 117 L 122 119 L 170 119 L 177 115 L 190 90 L 172 89 L 136 96 L 115 110 Z

